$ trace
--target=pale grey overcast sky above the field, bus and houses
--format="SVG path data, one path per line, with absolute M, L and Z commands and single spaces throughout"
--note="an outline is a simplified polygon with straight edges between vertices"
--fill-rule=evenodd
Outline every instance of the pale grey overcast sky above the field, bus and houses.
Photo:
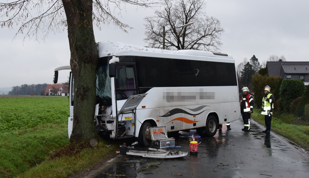
M 309 61 L 309 1 L 308 0 L 208 0 L 206 15 L 218 18 L 225 32 L 221 36 L 221 50 L 231 54 L 235 63 L 253 55 L 260 64 L 270 55 L 283 55 L 287 61 Z M 131 10 L 132 9 L 132 10 Z M 119 19 L 133 27 L 124 33 L 113 25 L 95 29 L 97 42 L 118 41 L 147 46 L 144 20 L 154 10 L 126 6 Z M 182 25 L 182 24 L 180 24 Z M 168 28 L 168 27 L 166 27 Z M 67 31 L 49 34 L 43 42 L 23 35 L 15 36 L 17 28 L 0 28 L 0 88 L 22 84 L 52 84 L 53 70 L 70 65 Z M 59 72 L 58 82 L 67 81 L 69 72 Z

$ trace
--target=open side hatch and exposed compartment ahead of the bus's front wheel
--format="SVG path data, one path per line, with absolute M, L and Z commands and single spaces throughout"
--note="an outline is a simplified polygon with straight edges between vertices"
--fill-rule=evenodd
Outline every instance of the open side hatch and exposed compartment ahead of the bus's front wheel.
M 117 137 L 133 137 L 136 133 L 136 108 L 139 103 L 147 95 L 140 94 L 135 96 L 130 96 L 122 108 L 118 112 L 118 128 L 117 128 Z

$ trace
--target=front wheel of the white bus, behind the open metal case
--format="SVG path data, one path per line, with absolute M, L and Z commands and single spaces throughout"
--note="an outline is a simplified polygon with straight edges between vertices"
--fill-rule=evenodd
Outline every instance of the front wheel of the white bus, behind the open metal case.
M 149 147 L 151 144 L 150 127 L 152 127 L 150 122 L 145 121 L 139 130 L 137 141 L 143 147 Z

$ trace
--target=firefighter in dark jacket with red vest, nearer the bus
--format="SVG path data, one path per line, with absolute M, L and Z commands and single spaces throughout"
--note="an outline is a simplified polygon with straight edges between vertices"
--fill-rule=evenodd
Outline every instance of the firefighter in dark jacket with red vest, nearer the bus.
M 248 87 L 243 87 L 243 96 L 240 98 L 240 113 L 243 117 L 243 131 L 249 132 L 250 130 L 250 118 L 251 118 L 251 113 L 253 113 L 253 96 L 249 94 L 249 89 Z

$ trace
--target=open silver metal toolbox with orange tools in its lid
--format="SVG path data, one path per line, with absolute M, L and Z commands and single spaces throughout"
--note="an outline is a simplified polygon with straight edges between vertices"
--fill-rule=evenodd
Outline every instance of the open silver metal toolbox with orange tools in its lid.
M 175 138 L 167 138 L 166 127 L 151 127 L 150 133 L 154 147 L 166 148 L 175 146 Z

